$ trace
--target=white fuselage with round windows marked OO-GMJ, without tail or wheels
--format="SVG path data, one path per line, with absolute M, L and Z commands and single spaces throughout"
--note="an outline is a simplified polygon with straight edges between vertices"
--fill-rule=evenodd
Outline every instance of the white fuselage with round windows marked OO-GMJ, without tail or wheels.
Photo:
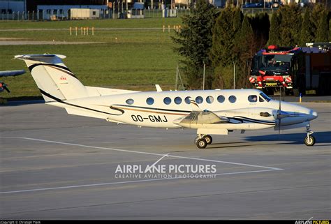
M 253 97 L 256 97 L 256 100 L 252 100 Z M 84 109 L 86 116 L 100 117 L 124 124 L 155 128 L 183 128 L 174 121 L 191 113 L 188 98 L 196 100 L 201 109 L 212 111 L 218 116 L 228 117 L 232 121 L 229 124 L 201 125 L 200 128 L 255 130 L 277 125 L 279 101 L 267 98 L 256 89 L 145 91 L 49 104 L 68 108 L 69 114 L 75 114 L 75 111 Z M 316 112 L 292 103 L 282 102 L 281 110 L 289 114 L 288 117 L 282 119 L 283 126 L 300 124 L 316 116 Z M 270 116 L 263 117 L 261 112 L 268 113 Z M 199 128 L 199 126 L 184 128 Z

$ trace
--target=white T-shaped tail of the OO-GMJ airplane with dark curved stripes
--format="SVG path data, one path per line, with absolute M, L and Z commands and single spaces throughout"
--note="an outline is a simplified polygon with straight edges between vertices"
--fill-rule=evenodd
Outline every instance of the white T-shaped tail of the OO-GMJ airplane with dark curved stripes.
M 59 54 L 24 54 L 16 55 L 29 68 L 46 102 L 70 100 L 87 97 L 87 89 L 82 82 L 67 68 Z

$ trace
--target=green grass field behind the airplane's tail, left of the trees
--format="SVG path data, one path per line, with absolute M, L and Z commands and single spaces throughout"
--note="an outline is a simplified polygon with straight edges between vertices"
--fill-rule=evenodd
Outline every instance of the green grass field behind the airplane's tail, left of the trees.
M 168 19 L 166 19 L 168 21 Z M 139 21 L 142 24 L 139 24 Z M 145 20 L 89 20 L 74 21 L 73 24 L 98 24 L 99 27 L 116 26 L 155 27 L 164 19 Z M 178 20 L 169 20 L 178 24 Z M 80 25 L 78 23 L 80 22 Z M 9 22 L 6 29 L 54 28 L 73 26 L 71 22 Z M 0 22 L 0 29 L 5 22 Z M 38 27 L 35 26 L 38 24 Z M 53 27 L 53 24 L 55 26 Z M 7 26 L 8 24 L 6 24 Z M 86 25 L 84 25 L 86 26 Z M 96 26 L 95 26 L 96 27 Z M 137 25 L 138 27 L 138 25 Z M 70 36 L 69 31 L 2 31 L 0 38 L 24 38 L 26 40 L 91 41 L 88 45 L 0 45 L 0 70 L 17 70 L 27 67 L 24 61 L 12 60 L 16 54 L 64 54 L 64 64 L 70 68 L 84 85 L 115 87 L 119 89 L 152 90 L 154 84 L 164 89 L 173 89 L 179 56 L 173 51 L 173 35 L 162 30 L 96 30 L 94 36 Z M 103 42 L 103 43 L 100 43 Z M 1 93 L 3 98 L 40 96 L 34 80 L 27 73 L 17 77 L 3 77 L 10 94 Z

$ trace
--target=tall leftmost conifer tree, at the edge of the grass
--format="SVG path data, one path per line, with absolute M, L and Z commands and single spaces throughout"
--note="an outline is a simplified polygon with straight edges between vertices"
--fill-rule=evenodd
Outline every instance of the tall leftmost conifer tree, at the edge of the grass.
M 215 10 L 216 8 L 207 0 L 198 0 L 190 15 L 182 17 L 183 27 L 172 38 L 177 44 L 175 51 L 184 57 L 182 61 L 184 76 L 191 89 L 201 87 L 203 64 L 207 67 L 206 75 L 212 75 L 212 72 L 209 72 L 211 68 L 209 51 L 212 47 Z

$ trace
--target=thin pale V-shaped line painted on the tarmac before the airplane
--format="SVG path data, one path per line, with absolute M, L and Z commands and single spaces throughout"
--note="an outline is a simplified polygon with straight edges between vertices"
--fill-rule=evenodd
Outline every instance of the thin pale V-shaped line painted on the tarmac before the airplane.
M 89 146 L 89 145 L 84 145 L 84 144 L 74 144 L 74 143 L 68 143 L 68 142 L 57 142 L 57 141 L 50 141 L 50 140 L 41 140 L 41 139 L 36 139 L 36 138 L 31 138 L 31 137 L 2 137 L 2 138 L 24 139 L 24 140 L 32 140 L 32 141 L 38 141 L 38 142 L 50 142 L 50 143 L 54 143 L 54 144 L 66 144 L 66 145 L 71 145 L 71 146 L 85 147 L 85 148 L 92 148 L 92 149 L 105 149 L 105 150 L 112 150 L 112 151 L 124 151 L 124 152 L 135 153 L 135 154 L 147 154 L 147 155 L 152 155 L 152 156 L 164 156 L 164 154 L 154 154 L 154 153 L 149 153 L 149 152 L 145 152 L 145 151 L 132 151 L 132 150 L 126 150 L 126 149 L 113 149 L 113 148 L 106 148 L 106 147 L 94 147 L 94 146 Z M 193 158 L 193 157 L 186 157 L 186 156 L 173 156 L 173 155 L 169 155 L 169 154 L 168 154 L 168 157 L 185 158 L 185 159 L 191 159 L 191 160 L 201 160 L 201 161 L 214 162 L 214 163 L 226 163 L 226 164 L 232 164 L 232 165 L 242 165 L 242 166 L 248 166 L 248 167 L 259 167 L 259 168 L 267 169 L 267 170 L 251 170 L 251 171 L 244 171 L 244 172 L 228 172 L 228 173 L 214 174 L 215 176 L 284 170 L 284 169 L 277 168 L 277 167 L 266 167 L 266 166 L 262 166 L 262 165 L 251 165 L 251 164 L 247 164 L 247 163 L 233 163 L 233 162 L 226 162 L 226 161 L 222 161 L 222 160 L 209 160 L 209 159 L 205 159 L 205 158 Z M 36 189 L 21 190 L 21 191 L 3 191 L 3 192 L 0 192 L 0 194 L 3 195 L 3 194 L 24 193 L 24 192 L 31 192 L 31 191 L 47 191 L 47 190 L 59 190 L 59 189 L 66 189 L 66 188 L 82 188 L 82 187 L 90 187 L 90 186 L 130 184 L 130 183 L 141 183 L 141 182 L 148 182 L 148 181 L 163 181 L 163 180 L 169 180 L 169 179 L 188 179 L 188 178 L 186 178 L 186 177 L 171 177 L 171 178 L 160 178 L 160 179 L 143 179 L 143 180 L 134 180 L 134 181 L 119 181 L 119 182 L 109 182 L 109 183 L 100 183 L 100 184 L 60 186 L 60 187 L 54 187 L 54 188 L 36 188 Z

